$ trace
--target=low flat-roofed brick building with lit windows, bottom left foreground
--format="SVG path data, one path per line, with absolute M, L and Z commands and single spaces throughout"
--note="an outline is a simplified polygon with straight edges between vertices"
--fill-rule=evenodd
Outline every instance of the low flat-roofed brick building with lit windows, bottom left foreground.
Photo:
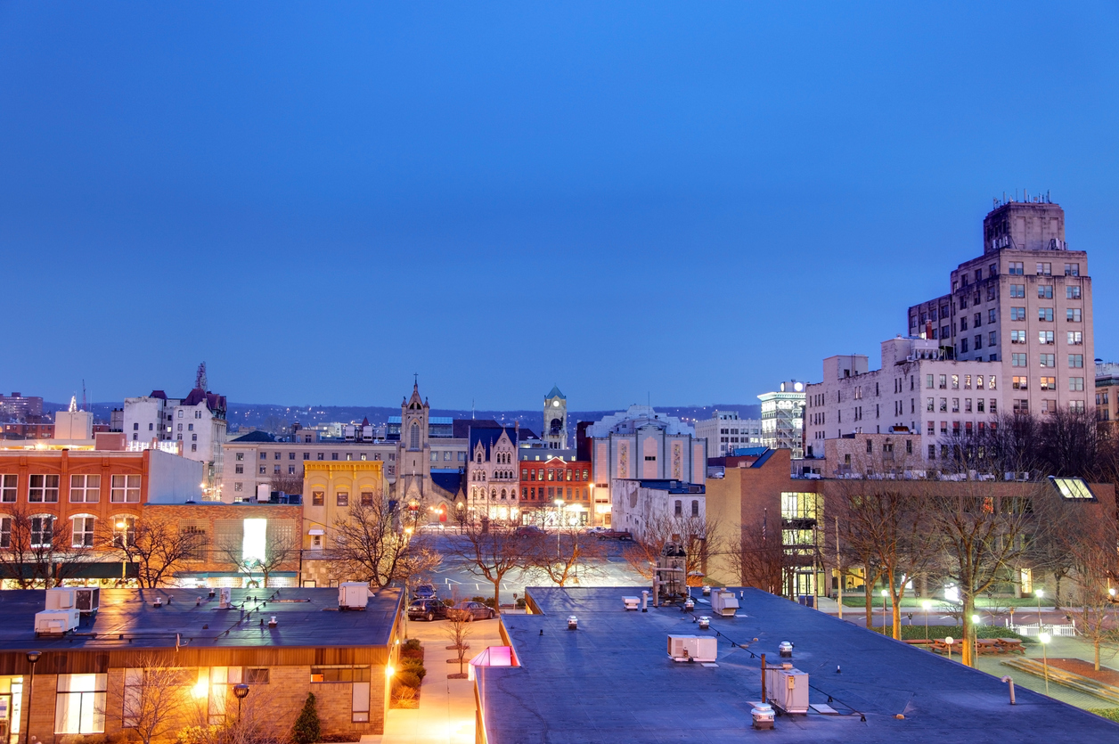
M 135 723 L 128 700 L 150 685 L 137 674 L 140 665 L 181 670 L 181 681 L 160 698 L 176 708 L 171 738 L 187 725 L 232 723 L 239 712 L 286 740 L 308 693 L 317 698 L 325 736 L 358 741 L 384 732 L 386 667 L 396 663 L 399 648 L 398 590 L 379 590 L 358 612 L 339 612 L 338 590 L 330 588 L 231 594 L 222 606 L 220 596 L 194 590 L 103 590 L 100 610 L 84 616 L 77 632 L 37 637 L 35 613 L 45 593 L 7 592 L 0 706 L 9 715 L 0 734 L 58 742 L 126 733 Z M 30 705 L 29 651 L 41 653 Z M 248 686 L 239 705 L 238 684 Z

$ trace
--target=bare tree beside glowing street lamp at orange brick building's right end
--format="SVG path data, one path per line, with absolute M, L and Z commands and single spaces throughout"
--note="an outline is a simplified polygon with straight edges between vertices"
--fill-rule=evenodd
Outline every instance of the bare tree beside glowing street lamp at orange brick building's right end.
M 205 547 L 201 533 L 182 530 L 178 520 L 163 516 L 120 517 L 101 520 L 97 543 L 122 562 L 137 567 L 140 586 L 162 586 Z

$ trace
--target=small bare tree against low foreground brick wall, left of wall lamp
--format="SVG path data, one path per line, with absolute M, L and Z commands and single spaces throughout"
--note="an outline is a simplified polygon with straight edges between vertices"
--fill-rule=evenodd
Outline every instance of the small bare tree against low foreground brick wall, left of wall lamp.
M 124 685 L 114 689 L 125 731 L 142 744 L 170 738 L 190 714 L 189 688 L 194 668 L 169 666 L 160 653 L 145 652 L 124 670 Z

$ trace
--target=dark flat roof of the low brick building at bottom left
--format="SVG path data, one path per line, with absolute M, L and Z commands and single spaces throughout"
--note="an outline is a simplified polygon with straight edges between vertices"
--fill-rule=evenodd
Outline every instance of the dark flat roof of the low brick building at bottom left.
M 220 590 L 213 599 L 208 592 L 103 588 L 101 609 L 76 631 L 36 638 L 35 613 L 46 592 L 8 590 L 0 601 L 0 651 L 175 648 L 177 640 L 191 648 L 387 646 L 401 600 L 398 588 L 382 588 L 364 611 L 342 612 L 337 588 L 235 588 L 231 608 L 222 610 Z M 267 625 L 272 615 L 275 628 Z

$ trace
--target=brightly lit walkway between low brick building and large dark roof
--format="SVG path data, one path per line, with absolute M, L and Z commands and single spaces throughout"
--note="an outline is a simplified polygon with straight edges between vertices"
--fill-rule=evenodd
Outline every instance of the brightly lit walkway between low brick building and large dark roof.
M 489 646 L 500 646 L 497 624 L 500 620 L 480 620 L 470 624 L 470 649 L 467 660 Z M 474 684 L 468 679 L 448 679 L 459 671 L 458 658 L 446 650 L 445 622 L 410 622 L 408 634 L 417 638 L 424 648 L 424 667 L 427 669 L 420 687 L 420 707 L 412 710 L 389 710 L 384 736 L 363 737 L 374 744 L 473 744 L 474 741 Z

